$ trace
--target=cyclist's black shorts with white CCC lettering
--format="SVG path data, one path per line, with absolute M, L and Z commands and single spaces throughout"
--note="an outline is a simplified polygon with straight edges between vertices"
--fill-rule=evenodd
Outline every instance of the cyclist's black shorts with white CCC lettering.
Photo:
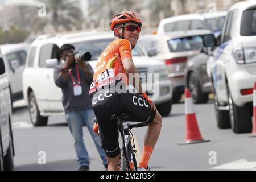
M 126 113 L 129 121 L 150 123 L 156 111 L 144 97 L 132 93 L 111 93 L 109 88 L 94 92 L 92 107 L 97 118 L 101 144 L 106 156 L 115 158 L 120 154 L 117 122 L 110 121 L 113 114 Z

